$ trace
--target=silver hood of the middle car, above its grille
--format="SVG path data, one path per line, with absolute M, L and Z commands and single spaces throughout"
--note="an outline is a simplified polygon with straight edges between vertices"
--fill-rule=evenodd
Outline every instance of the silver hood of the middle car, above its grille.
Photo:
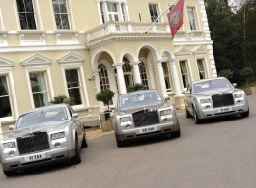
M 170 107 L 171 104 L 169 104 L 168 102 L 161 102 L 155 105 L 143 105 L 143 106 L 138 106 L 138 107 L 132 107 L 132 108 L 123 108 L 123 109 L 119 109 L 117 111 L 118 115 L 125 115 L 125 114 L 132 114 L 144 109 L 159 109 L 159 108 L 168 108 Z

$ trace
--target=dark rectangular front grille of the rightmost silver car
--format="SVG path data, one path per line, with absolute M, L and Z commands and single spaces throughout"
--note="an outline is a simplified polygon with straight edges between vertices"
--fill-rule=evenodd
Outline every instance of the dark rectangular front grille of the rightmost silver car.
M 212 96 L 213 108 L 234 105 L 233 94 L 223 93 Z

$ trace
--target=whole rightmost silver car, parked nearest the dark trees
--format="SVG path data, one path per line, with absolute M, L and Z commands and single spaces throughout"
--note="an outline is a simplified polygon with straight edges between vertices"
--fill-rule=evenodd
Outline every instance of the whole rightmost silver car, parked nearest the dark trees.
M 186 118 L 194 117 L 196 124 L 203 119 L 237 115 L 249 116 L 244 91 L 236 89 L 226 78 L 203 79 L 189 84 L 185 93 Z

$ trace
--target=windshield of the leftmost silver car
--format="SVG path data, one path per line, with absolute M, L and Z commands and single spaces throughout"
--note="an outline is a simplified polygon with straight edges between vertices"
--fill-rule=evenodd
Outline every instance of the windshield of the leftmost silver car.
M 68 117 L 64 107 L 47 108 L 20 116 L 16 127 L 23 128 L 28 126 L 35 126 L 43 122 L 64 121 L 67 119 Z

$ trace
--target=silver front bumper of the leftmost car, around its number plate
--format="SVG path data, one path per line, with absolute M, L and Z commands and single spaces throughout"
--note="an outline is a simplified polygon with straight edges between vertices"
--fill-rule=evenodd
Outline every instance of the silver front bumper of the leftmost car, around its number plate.
M 45 153 L 46 158 L 33 162 L 25 162 L 25 157 L 33 154 Z M 16 157 L 5 157 L 2 161 L 2 168 L 5 171 L 17 171 L 22 169 L 29 169 L 34 167 L 43 166 L 46 164 L 57 163 L 63 160 L 67 160 L 75 155 L 75 150 L 68 148 L 56 148 L 51 150 L 45 150 L 42 152 L 26 154 Z

